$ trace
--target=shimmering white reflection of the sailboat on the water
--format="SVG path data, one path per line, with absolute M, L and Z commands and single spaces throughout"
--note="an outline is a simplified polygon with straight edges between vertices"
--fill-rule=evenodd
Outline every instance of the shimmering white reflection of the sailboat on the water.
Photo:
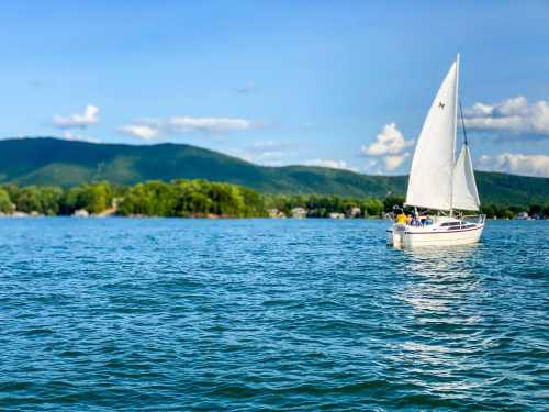
M 470 310 L 480 296 L 475 260 L 482 245 L 403 250 L 408 281 L 395 298 L 410 311 L 410 333 L 397 343 L 392 361 L 423 376 L 418 383 L 445 396 L 478 386 L 462 375 L 480 366 L 477 338 L 470 333 L 483 319 Z M 464 360 L 466 359 L 466 360 Z

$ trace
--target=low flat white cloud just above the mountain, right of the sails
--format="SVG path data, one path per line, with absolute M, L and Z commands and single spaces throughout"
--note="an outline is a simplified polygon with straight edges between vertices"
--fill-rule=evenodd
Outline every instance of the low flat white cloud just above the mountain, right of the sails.
M 484 170 L 514 175 L 549 177 L 549 156 L 502 153 L 496 156 L 482 155 L 477 162 Z

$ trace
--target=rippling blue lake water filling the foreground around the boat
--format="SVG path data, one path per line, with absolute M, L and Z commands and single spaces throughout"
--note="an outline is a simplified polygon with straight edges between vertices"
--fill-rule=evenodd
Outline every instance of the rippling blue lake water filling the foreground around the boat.
M 547 410 L 549 222 L 0 221 L 0 409 Z

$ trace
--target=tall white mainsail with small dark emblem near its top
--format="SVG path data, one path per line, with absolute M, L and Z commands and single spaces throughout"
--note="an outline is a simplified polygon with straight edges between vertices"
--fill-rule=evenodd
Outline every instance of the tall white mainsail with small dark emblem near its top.
M 425 119 L 410 171 L 406 204 L 450 210 L 456 149 L 459 56 Z

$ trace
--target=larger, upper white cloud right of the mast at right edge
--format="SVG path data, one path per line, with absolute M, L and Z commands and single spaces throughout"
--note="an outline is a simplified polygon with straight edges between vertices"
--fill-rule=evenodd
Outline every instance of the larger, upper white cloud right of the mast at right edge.
M 464 115 L 471 129 L 549 136 L 549 102 L 545 100 L 528 103 L 519 96 L 494 104 L 475 103 Z

